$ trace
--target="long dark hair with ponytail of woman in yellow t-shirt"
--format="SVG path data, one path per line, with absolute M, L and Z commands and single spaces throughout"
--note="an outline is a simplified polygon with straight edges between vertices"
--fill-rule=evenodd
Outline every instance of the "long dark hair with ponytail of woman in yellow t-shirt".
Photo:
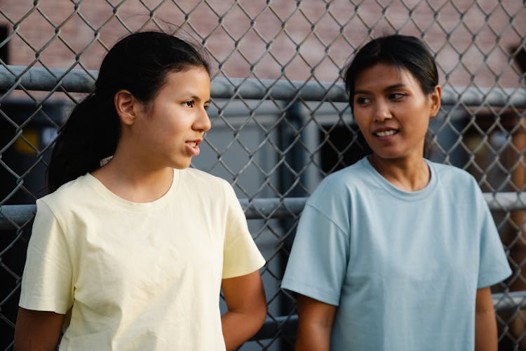
M 138 32 L 121 39 L 100 65 L 95 89 L 82 100 L 60 128 L 48 167 L 48 190 L 100 167 L 114 154 L 121 124 L 114 107 L 117 91 L 127 90 L 137 100 L 154 100 L 166 75 L 190 66 L 210 65 L 187 41 L 162 32 Z

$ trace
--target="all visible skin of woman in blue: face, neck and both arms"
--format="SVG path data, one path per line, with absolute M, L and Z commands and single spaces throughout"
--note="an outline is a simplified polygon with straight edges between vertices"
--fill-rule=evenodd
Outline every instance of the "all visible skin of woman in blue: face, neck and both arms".
M 378 79 L 382 77 L 382 79 Z M 424 161 L 429 120 L 440 110 L 441 88 L 422 91 L 405 69 L 379 63 L 356 77 L 353 115 L 373 154 L 369 161 L 396 187 L 414 192 L 426 187 L 430 173 Z M 298 295 L 297 351 L 330 350 L 337 306 Z M 476 293 L 477 351 L 497 350 L 497 324 L 490 288 Z

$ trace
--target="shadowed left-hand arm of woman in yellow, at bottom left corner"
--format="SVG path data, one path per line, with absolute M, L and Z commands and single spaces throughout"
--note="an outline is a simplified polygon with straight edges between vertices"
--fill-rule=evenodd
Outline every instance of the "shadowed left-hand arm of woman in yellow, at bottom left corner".
M 64 314 L 18 308 L 15 351 L 56 350 Z

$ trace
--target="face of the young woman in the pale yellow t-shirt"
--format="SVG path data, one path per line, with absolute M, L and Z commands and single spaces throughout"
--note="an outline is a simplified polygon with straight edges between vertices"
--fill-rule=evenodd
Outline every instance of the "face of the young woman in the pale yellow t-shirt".
M 210 129 L 209 103 L 210 77 L 203 67 L 168 73 L 152 102 L 137 103 L 130 126 L 136 157 L 144 166 L 187 168 Z

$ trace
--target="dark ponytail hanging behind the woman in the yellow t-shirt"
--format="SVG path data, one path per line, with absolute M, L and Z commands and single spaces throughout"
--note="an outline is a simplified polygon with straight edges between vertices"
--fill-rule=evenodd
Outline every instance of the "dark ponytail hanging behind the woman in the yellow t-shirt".
M 95 94 L 79 102 L 60 128 L 48 167 L 48 190 L 95 171 L 100 160 L 114 154 L 119 140 L 119 119 L 107 116 L 107 108 Z M 113 107 L 112 107 L 113 108 Z M 106 111 L 104 111 L 106 110 Z

